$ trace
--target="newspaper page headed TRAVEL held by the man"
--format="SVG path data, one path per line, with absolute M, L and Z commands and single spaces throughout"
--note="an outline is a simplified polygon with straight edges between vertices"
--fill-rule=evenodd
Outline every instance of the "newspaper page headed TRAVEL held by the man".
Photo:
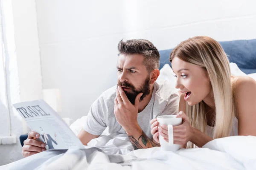
M 70 127 L 44 100 L 13 105 L 32 131 L 40 134 L 39 141 L 47 150 L 84 149 L 84 145 Z

